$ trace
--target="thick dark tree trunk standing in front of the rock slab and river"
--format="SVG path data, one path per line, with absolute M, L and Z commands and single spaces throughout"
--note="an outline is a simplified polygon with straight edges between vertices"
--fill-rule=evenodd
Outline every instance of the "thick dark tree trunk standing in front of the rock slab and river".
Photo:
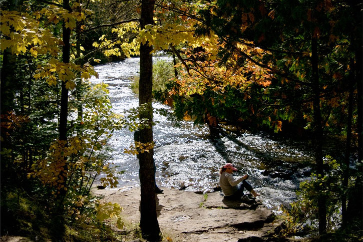
M 141 2 L 141 29 L 145 29 L 146 25 L 153 25 L 154 16 L 154 0 L 142 0 Z M 142 143 L 153 142 L 153 110 L 152 110 L 152 75 L 153 60 L 150 52 L 152 46 L 146 42 L 140 45 L 140 82 L 139 82 L 139 105 L 146 104 L 147 109 L 140 112 L 140 119 L 147 118 L 150 128 L 140 130 L 139 139 Z M 156 214 L 155 201 L 155 175 L 154 175 L 154 150 L 139 154 L 140 164 L 140 228 L 142 235 L 149 241 L 160 241 L 161 233 Z

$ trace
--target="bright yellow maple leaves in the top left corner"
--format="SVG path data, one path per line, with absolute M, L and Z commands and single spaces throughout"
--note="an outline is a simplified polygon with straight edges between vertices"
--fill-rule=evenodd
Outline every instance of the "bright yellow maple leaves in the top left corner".
M 77 4 L 73 8 L 77 8 Z M 46 54 L 58 57 L 59 47 L 63 45 L 63 42 L 60 38 L 55 37 L 49 29 L 41 27 L 43 25 L 41 19 L 47 20 L 46 25 L 57 25 L 62 21 L 66 28 L 72 30 L 76 27 L 77 21 L 85 20 L 86 14 L 87 12 L 69 12 L 56 6 L 44 8 L 32 15 L 16 11 L 2 11 L 1 50 L 9 50 L 14 55 L 29 52 L 35 58 Z M 57 59 L 51 59 L 46 65 L 39 65 L 36 72 L 36 79 L 46 79 L 49 85 L 56 85 L 60 80 L 66 82 L 68 89 L 75 88 L 73 80 L 77 73 L 81 73 L 81 78 L 84 80 L 97 76 L 89 63 L 80 66 L 75 63 L 62 63 Z

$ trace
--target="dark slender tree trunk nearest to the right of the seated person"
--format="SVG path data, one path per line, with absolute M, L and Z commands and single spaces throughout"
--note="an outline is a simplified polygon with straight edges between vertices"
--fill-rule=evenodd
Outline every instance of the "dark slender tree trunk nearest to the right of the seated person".
M 312 86 L 313 86 L 313 126 L 314 126 L 314 156 L 316 162 L 317 174 L 324 176 L 324 166 L 322 157 L 322 140 L 323 132 L 321 126 L 321 111 L 320 111 L 320 88 L 318 76 L 318 55 L 317 55 L 317 39 L 311 38 L 311 69 L 312 69 Z M 320 187 L 320 189 L 324 189 Z M 318 192 L 317 206 L 319 219 L 319 234 L 326 234 L 326 197 Z

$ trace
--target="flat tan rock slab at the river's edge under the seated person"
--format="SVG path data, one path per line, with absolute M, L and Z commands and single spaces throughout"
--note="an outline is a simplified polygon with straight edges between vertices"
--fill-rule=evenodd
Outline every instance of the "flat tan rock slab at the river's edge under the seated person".
M 163 188 L 157 194 L 157 215 L 162 232 L 174 236 L 173 241 L 238 241 L 267 238 L 281 222 L 258 200 L 227 201 L 220 192 L 207 195 Z M 94 190 L 107 202 L 119 203 L 126 220 L 140 221 L 140 188 Z M 175 240 L 176 239 L 176 240 Z

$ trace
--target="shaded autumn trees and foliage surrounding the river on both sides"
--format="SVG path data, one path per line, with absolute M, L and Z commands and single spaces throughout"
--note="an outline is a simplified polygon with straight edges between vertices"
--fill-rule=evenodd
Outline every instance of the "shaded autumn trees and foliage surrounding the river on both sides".
M 306 136 L 311 180 L 286 211 L 283 236 L 362 236 L 363 76 L 359 1 L 8 1 L 1 3 L 1 234 L 117 241 L 119 204 L 90 192 L 117 186 L 112 132 L 140 130 L 142 206 L 134 233 L 162 240 L 154 184 L 152 99 L 188 118 Z M 171 76 L 152 54 L 173 57 Z M 111 111 L 93 65 L 140 56 L 140 106 Z M 160 69 L 160 67 L 159 67 Z M 157 71 L 157 70 L 156 70 Z M 326 154 L 331 138 L 342 154 Z M 144 162 L 145 161 L 145 162 Z M 143 192 L 144 190 L 144 192 Z M 334 238 L 335 236 L 335 238 Z M 332 238 L 333 237 L 333 238 Z M 343 240 L 343 239 L 342 239 Z

